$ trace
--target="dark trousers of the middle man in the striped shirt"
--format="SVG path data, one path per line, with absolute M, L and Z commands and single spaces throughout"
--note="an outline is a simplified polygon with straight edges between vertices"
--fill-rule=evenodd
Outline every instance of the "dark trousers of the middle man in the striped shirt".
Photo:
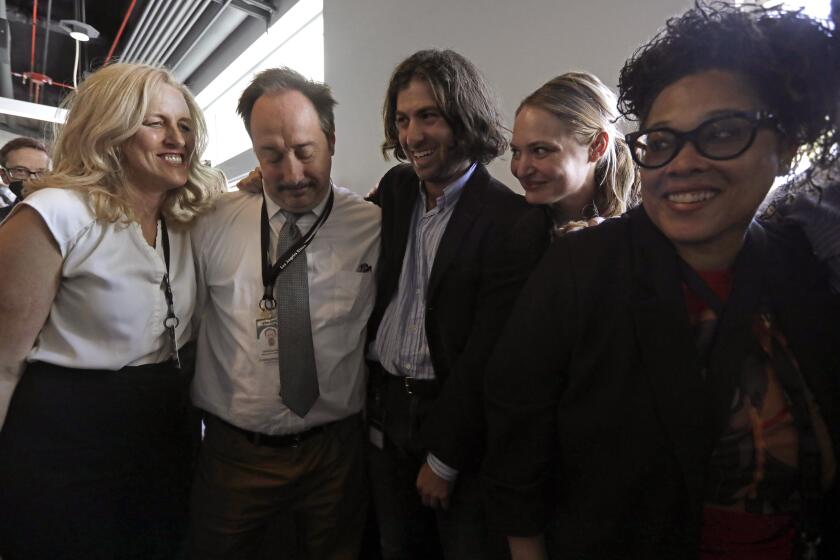
M 388 375 L 388 374 L 385 374 Z M 385 433 L 382 449 L 368 445 L 368 472 L 384 560 L 505 558 L 506 544 L 488 534 L 479 477 L 461 473 L 448 510 L 422 504 L 417 474 L 426 452 L 417 430 L 434 395 L 409 394 L 394 376 L 372 373 L 369 411 Z M 378 414 L 377 414 L 378 413 Z

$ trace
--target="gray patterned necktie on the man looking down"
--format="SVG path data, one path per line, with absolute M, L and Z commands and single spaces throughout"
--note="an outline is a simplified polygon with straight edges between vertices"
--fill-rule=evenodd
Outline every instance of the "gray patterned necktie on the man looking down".
M 283 212 L 277 255 L 285 253 L 301 237 L 297 221 L 303 214 Z M 302 251 L 277 277 L 277 350 L 280 366 L 280 397 L 292 412 L 303 418 L 318 399 L 318 372 L 309 320 L 309 281 L 306 251 Z

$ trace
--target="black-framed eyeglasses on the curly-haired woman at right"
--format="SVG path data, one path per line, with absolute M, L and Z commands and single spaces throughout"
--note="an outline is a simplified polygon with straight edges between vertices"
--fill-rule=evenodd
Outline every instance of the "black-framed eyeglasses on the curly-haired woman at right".
M 633 161 L 645 169 L 656 169 L 677 157 L 686 142 L 694 144 L 703 157 L 718 161 L 734 159 L 752 146 L 760 126 L 779 130 L 774 115 L 757 111 L 714 117 L 688 132 L 667 127 L 651 128 L 628 134 L 624 139 Z

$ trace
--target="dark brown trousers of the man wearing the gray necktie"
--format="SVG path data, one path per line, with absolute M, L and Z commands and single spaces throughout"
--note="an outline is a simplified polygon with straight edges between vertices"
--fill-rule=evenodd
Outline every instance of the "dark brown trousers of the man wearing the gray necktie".
M 284 447 L 256 445 L 211 415 L 205 422 L 193 481 L 192 558 L 358 557 L 368 506 L 359 415 Z M 294 522 L 292 550 L 273 534 L 278 520 Z

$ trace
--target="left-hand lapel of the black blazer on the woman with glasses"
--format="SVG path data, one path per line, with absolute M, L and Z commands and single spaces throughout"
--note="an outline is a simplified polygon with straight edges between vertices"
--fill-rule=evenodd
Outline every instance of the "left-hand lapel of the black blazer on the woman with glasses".
M 649 377 L 689 495 L 699 499 L 708 458 L 704 445 L 705 383 L 697 363 L 677 256 L 643 208 L 632 212 L 634 280 L 629 295 L 641 369 Z

